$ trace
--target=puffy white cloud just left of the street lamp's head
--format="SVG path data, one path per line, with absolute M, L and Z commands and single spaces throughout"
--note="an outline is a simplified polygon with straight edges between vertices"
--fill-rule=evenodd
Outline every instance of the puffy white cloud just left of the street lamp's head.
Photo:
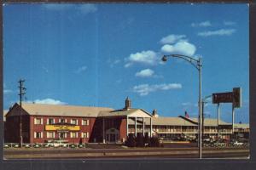
M 156 65 L 159 60 L 157 54 L 154 51 L 142 51 L 136 54 L 130 54 L 128 58 L 125 59 L 128 63 L 125 64 L 125 67 L 129 67 L 134 63 L 140 63 L 145 65 Z

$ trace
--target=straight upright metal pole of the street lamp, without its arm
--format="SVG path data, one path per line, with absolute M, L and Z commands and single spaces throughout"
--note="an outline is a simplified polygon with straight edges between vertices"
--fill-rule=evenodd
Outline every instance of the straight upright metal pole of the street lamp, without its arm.
M 199 116 L 200 116 L 200 138 L 199 138 L 199 158 L 201 159 L 201 122 L 202 122 L 202 114 L 201 114 L 201 59 L 199 59 Z

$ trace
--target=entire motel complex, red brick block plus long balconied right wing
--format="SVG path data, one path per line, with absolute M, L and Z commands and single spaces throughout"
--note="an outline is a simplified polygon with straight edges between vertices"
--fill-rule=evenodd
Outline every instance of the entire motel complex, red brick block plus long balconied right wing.
M 131 100 L 125 99 L 125 107 L 114 110 L 106 107 L 73 105 L 28 104 L 13 105 L 5 113 L 4 142 L 19 143 L 20 115 L 23 143 L 48 143 L 62 140 L 67 143 L 124 143 L 130 133 L 157 136 L 172 140 L 180 137 L 195 139 L 198 120 L 188 115 L 163 117 L 154 110 L 131 108 Z M 248 138 L 248 124 L 235 124 L 235 134 Z M 217 119 L 205 118 L 203 135 L 210 138 L 230 139 L 232 125 Z

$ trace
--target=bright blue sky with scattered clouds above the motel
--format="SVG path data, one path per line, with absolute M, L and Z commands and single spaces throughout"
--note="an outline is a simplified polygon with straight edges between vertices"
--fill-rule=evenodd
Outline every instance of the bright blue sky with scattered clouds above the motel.
M 198 115 L 198 71 L 182 59 L 201 57 L 202 96 L 242 88 L 236 122 L 248 122 L 247 4 L 5 4 L 3 105 L 26 102 L 123 108 L 160 116 Z M 207 104 L 206 116 L 217 116 Z M 221 105 L 231 121 L 231 105 Z

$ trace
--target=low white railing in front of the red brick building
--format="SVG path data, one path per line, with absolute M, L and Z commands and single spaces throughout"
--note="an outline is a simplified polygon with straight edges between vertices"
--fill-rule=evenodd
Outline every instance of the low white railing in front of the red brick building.
M 36 143 L 22 144 L 22 148 L 85 148 L 86 144 Z M 3 148 L 20 148 L 18 143 L 4 143 Z

